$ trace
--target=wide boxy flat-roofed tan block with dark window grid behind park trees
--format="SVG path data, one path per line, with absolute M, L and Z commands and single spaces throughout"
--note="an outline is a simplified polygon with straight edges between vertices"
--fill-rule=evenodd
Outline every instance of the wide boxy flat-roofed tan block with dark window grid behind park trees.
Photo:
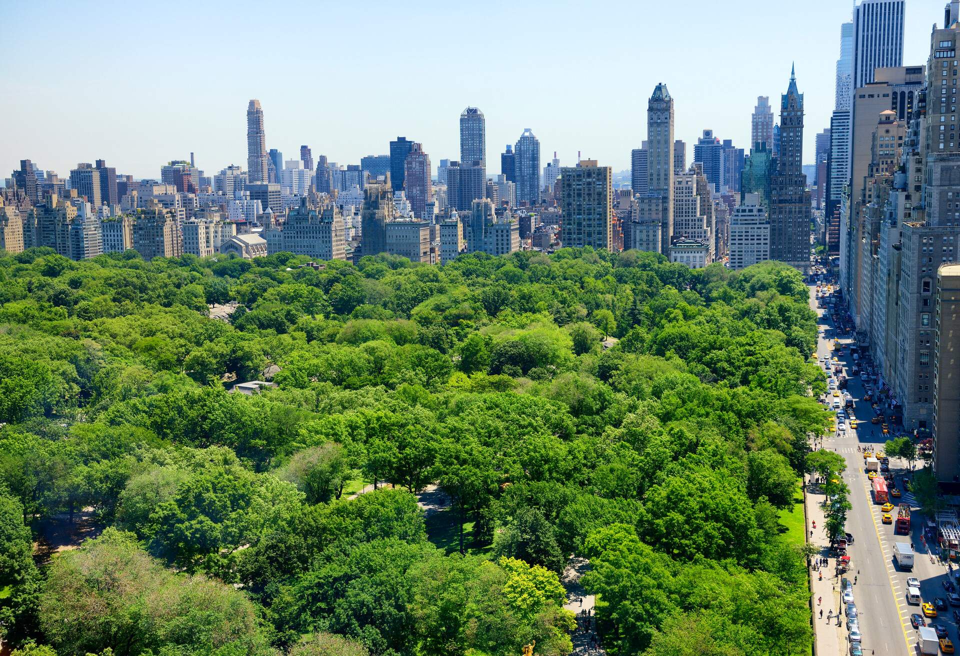
M 582 159 L 561 169 L 561 236 L 564 247 L 613 249 L 613 169 Z

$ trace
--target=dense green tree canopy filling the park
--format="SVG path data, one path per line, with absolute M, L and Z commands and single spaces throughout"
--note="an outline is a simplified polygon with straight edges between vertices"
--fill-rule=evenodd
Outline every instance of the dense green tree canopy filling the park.
M 779 522 L 826 424 L 796 271 L 305 261 L 0 256 L 22 653 L 560 655 L 574 553 L 612 654 L 809 643 Z M 105 530 L 37 567 L 78 516 Z

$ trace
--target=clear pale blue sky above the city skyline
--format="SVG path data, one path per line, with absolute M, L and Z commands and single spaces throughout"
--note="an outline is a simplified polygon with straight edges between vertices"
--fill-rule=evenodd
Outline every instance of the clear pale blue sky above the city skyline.
M 908 0 L 904 65 L 925 63 L 946 0 Z M 21 158 L 69 176 L 106 159 L 158 178 L 195 153 L 247 168 L 247 105 L 267 147 L 340 164 L 420 141 L 436 171 L 459 159 L 459 116 L 487 119 L 488 174 L 525 128 L 546 164 L 629 168 L 663 82 L 676 135 L 712 129 L 749 149 L 758 95 L 775 111 L 796 62 L 804 162 L 829 125 L 848 0 L 584 3 L 0 0 L 0 180 Z

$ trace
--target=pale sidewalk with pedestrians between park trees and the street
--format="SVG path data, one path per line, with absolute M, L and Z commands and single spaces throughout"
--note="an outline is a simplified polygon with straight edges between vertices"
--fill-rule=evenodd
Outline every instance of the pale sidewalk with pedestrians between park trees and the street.
M 811 483 L 812 476 L 804 476 L 804 506 L 806 510 L 806 540 L 808 543 L 819 550 L 814 554 L 814 560 L 819 556 L 828 558 L 829 541 L 827 539 L 826 525 L 827 520 L 824 517 L 822 504 L 824 494 L 820 486 Z M 817 527 L 813 528 L 813 522 Z M 810 531 L 813 536 L 810 536 Z M 810 606 L 813 608 L 813 634 L 814 634 L 814 653 L 818 656 L 833 656 L 834 654 L 847 653 L 847 635 L 846 626 L 844 626 L 843 604 L 840 600 L 840 579 L 834 575 L 836 565 L 835 558 L 828 558 L 829 565 L 821 568 L 824 575 L 820 580 L 818 571 L 810 572 L 810 590 L 812 591 Z M 817 599 L 823 598 L 820 605 L 817 605 Z M 820 609 L 824 610 L 824 617 L 820 617 Z M 833 611 L 833 616 L 827 620 L 827 615 Z M 840 613 L 840 625 L 837 625 L 836 613 Z

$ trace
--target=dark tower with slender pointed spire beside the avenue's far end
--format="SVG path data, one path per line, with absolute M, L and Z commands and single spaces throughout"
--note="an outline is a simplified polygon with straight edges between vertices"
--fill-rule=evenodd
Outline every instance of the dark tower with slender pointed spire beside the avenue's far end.
M 780 97 L 780 157 L 770 182 L 770 259 L 806 271 L 810 266 L 810 192 L 806 189 L 804 94 L 790 70 L 790 85 Z

